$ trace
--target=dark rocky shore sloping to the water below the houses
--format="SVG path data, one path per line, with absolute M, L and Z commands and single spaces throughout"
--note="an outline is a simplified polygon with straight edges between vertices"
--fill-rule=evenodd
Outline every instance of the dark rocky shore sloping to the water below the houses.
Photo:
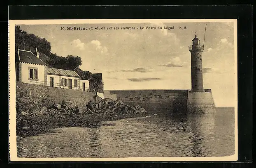
M 51 99 L 16 97 L 16 134 L 33 136 L 52 132 L 58 127 L 100 127 L 114 125 L 104 121 L 135 118 L 150 115 L 141 106 L 130 106 L 120 100 L 99 96 L 86 105 L 75 105 L 71 101 L 58 104 Z

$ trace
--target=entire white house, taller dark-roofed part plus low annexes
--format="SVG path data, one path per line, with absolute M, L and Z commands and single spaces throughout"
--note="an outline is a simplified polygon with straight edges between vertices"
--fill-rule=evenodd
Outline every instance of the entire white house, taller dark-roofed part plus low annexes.
M 20 50 L 15 55 L 16 81 L 63 89 L 88 91 L 89 81 L 82 80 L 74 70 L 48 68 L 39 53 Z

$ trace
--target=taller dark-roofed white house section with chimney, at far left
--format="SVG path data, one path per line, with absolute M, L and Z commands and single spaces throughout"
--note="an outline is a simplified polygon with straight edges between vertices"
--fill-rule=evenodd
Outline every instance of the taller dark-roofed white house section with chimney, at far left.
M 20 50 L 15 54 L 16 81 L 43 84 L 47 64 L 39 58 L 39 53 Z

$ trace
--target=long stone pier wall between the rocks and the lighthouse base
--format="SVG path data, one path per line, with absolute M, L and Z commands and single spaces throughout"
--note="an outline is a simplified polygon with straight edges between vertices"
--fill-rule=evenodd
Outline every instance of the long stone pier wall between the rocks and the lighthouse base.
M 149 112 L 186 113 L 189 90 L 110 90 L 117 100 L 140 105 Z

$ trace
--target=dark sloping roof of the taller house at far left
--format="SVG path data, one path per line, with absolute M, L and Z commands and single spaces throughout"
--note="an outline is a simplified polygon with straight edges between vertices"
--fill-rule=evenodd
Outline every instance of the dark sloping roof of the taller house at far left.
M 42 61 L 40 58 L 37 58 L 35 54 L 31 51 L 20 50 L 18 49 L 18 57 L 17 59 L 20 62 L 30 63 L 30 64 L 40 64 L 46 66 L 47 64 Z

